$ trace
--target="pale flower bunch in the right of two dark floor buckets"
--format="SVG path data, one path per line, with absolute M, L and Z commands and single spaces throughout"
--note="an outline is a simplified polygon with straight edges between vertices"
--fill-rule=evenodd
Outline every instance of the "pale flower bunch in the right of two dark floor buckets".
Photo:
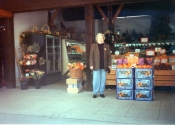
M 44 71 L 38 70 L 38 69 L 32 69 L 30 70 L 29 74 L 33 79 L 41 79 L 44 75 Z

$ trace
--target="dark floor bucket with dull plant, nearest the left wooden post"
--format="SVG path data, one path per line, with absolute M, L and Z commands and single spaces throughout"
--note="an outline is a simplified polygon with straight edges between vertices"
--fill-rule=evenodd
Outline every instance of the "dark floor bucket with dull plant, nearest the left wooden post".
M 28 89 L 29 76 L 21 75 L 19 78 L 21 90 Z

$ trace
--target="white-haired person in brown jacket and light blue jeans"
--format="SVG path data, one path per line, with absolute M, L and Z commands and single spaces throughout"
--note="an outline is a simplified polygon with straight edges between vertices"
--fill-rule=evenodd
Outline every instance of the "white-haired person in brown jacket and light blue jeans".
M 93 70 L 93 98 L 100 93 L 105 97 L 106 71 L 111 69 L 111 54 L 107 44 L 104 43 L 105 36 L 102 33 L 96 35 L 97 43 L 92 44 L 90 50 L 90 69 Z

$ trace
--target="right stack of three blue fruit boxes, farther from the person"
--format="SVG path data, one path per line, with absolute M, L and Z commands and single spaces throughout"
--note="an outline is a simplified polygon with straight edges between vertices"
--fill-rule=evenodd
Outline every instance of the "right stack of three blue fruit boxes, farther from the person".
M 153 68 L 135 69 L 135 100 L 152 101 L 154 89 Z

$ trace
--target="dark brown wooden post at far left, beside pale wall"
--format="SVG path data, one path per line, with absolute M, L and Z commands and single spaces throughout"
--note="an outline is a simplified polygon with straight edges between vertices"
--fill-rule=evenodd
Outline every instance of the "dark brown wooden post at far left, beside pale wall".
M 16 87 L 15 79 L 15 47 L 14 47 L 14 30 L 13 30 L 13 18 L 5 18 L 4 26 L 6 28 L 4 32 L 5 47 L 5 79 L 7 88 Z

